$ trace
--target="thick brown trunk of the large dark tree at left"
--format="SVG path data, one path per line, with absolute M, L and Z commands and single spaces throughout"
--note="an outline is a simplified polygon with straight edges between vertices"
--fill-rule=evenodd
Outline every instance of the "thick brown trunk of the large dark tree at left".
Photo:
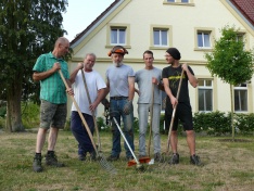
M 24 131 L 21 115 L 22 80 L 16 80 L 8 91 L 7 129 L 11 131 Z

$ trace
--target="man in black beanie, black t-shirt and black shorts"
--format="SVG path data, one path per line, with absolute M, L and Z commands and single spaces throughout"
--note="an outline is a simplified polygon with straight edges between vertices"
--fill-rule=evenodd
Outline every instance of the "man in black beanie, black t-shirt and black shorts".
M 164 89 L 167 93 L 165 109 L 166 127 L 169 127 L 170 120 L 174 119 L 172 133 L 169 135 L 173 155 L 168 163 L 172 165 L 179 163 L 179 154 L 177 152 L 177 127 L 178 120 L 180 119 L 187 133 L 187 143 L 190 150 L 190 163 L 200 166 L 202 163 L 200 157 L 195 155 L 195 137 L 188 88 L 188 81 L 195 88 L 198 86 L 198 79 L 190 66 L 179 63 L 181 55 L 176 48 L 167 49 L 165 59 L 166 62 L 170 64 L 163 68 Z M 181 75 L 182 69 L 185 72 L 183 76 Z M 178 86 L 180 86 L 180 91 L 178 91 Z M 179 94 L 178 98 L 177 94 Z M 176 117 L 173 117 L 174 110 L 176 110 Z

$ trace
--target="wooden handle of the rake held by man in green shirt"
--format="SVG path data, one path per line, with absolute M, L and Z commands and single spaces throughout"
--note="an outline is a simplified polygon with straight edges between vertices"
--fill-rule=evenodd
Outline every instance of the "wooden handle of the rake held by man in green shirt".
M 60 76 L 61 76 L 61 78 L 62 78 L 62 80 L 63 80 L 63 82 L 64 82 L 66 89 L 69 88 L 68 85 L 67 85 L 67 82 L 66 82 L 66 80 L 65 80 L 65 78 L 64 78 L 64 76 L 63 76 L 63 73 L 62 73 L 61 69 L 59 69 L 59 74 L 60 74 Z M 89 136 L 89 138 L 90 138 L 90 140 L 91 140 L 92 147 L 93 147 L 94 151 L 96 151 L 97 154 L 98 154 L 97 145 L 96 145 L 96 143 L 94 143 L 92 133 L 91 133 L 91 131 L 90 131 L 90 129 L 89 129 L 89 127 L 88 127 L 88 125 L 87 125 L 87 122 L 86 122 L 86 119 L 84 118 L 84 116 L 82 116 L 82 114 L 81 114 L 81 112 L 80 112 L 80 109 L 79 109 L 79 106 L 78 106 L 76 100 L 74 99 L 74 97 L 73 97 L 73 96 L 69 96 L 69 97 L 72 98 L 73 103 L 74 103 L 75 107 L 77 109 L 77 112 L 78 112 L 78 114 L 79 114 L 79 116 L 80 116 L 80 118 L 81 118 L 81 120 L 82 120 L 82 124 L 85 125 L 85 128 L 86 128 L 86 130 L 87 130 L 87 132 L 88 132 L 88 136 Z

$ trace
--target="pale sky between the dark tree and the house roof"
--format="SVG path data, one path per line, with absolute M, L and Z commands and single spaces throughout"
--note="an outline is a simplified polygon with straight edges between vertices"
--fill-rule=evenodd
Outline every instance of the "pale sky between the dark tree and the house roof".
M 63 27 L 72 41 L 87 28 L 114 0 L 68 0 L 67 12 L 63 13 Z

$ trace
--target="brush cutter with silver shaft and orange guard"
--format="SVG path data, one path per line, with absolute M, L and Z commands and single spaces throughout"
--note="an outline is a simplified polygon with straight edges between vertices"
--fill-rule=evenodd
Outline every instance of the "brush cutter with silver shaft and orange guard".
M 112 113 L 111 113 L 111 116 L 112 116 L 112 118 L 113 118 L 115 125 L 117 126 L 117 128 L 118 128 L 118 130 L 119 130 L 122 137 L 124 138 L 125 143 L 127 144 L 127 147 L 128 147 L 128 149 L 129 149 L 131 155 L 132 155 L 134 158 L 135 158 L 135 160 L 131 160 L 131 161 L 128 162 L 128 166 L 137 165 L 137 166 L 136 166 L 136 169 L 137 169 L 138 171 L 144 171 L 144 170 L 145 170 L 145 169 L 144 169 L 144 166 L 138 161 L 137 156 L 135 155 L 132 149 L 131 149 L 130 145 L 129 145 L 129 142 L 127 141 L 127 139 L 126 139 L 126 137 L 125 137 L 123 130 L 120 129 L 120 127 L 119 127 L 119 125 L 118 125 L 116 118 L 114 117 L 114 113 L 115 113 L 115 112 L 112 112 Z

